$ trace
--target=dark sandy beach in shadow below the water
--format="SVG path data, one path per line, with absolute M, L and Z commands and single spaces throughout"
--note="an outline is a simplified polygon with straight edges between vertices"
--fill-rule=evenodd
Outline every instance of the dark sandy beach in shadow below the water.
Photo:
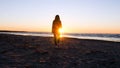
M 120 68 L 120 42 L 0 34 L 1 68 Z

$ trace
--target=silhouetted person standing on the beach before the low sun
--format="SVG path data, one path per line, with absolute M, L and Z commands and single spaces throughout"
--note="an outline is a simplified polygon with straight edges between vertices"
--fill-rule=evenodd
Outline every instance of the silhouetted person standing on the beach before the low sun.
M 53 24 L 52 24 L 52 33 L 54 35 L 55 45 L 58 45 L 60 41 L 60 32 L 59 32 L 60 28 L 62 28 L 62 23 L 60 21 L 59 15 L 56 15 L 55 19 L 53 20 Z

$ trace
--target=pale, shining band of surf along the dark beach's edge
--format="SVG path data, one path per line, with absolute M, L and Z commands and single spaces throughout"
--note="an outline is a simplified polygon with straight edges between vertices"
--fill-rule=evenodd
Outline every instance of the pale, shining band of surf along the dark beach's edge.
M 38 36 L 38 37 L 53 37 L 52 34 L 44 34 L 44 33 L 19 33 L 19 32 L 2 32 L 0 34 L 10 34 L 10 35 L 21 35 L 21 36 Z M 86 39 L 86 40 L 101 40 L 101 41 L 110 41 L 110 42 L 120 42 L 120 39 L 119 38 L 113 38 L 113 37 L 97 37 L 97 36 L 75 36 L 75 35 L 64 35 L 63 34 L 63 37 L 66 37 L 66 38 L 76 38 L 76 39 Z

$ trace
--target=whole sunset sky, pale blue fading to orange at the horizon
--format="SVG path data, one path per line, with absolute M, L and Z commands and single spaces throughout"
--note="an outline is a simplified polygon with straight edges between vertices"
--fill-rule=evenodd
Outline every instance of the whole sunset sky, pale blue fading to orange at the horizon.
M 120 34 L 120 0 L 0 0 L 0 30 L 51 32 L 56 14 L 64 32 Z

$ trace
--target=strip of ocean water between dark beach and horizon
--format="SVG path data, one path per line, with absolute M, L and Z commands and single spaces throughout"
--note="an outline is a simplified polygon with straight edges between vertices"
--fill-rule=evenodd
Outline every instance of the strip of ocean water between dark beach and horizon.
M 51 33 L 48 33 L 48 32 L 0 32 L 0 34 L 53 37 L 53 35 Z M 62 34 L 62 37 L 120 42 L 120 34 L 67 33 L 67 34 Z

